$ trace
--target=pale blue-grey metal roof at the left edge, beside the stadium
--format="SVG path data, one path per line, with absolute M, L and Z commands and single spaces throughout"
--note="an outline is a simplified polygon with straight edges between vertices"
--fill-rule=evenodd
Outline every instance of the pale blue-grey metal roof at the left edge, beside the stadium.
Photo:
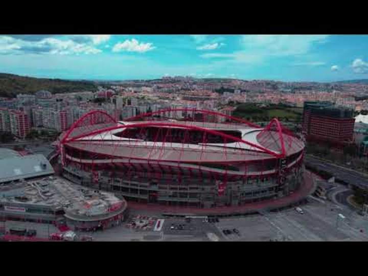
M 0 159 L 0 183 L 55 173 L 42 154 Z

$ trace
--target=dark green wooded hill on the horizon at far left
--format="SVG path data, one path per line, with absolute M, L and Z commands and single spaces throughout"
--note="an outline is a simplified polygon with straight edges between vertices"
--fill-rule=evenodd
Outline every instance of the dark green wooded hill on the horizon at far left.
M 53 94 L 86 90 L 96 91 L 97 84 L 93 81 L 39 79 L 0 73 L 0 97 L 13 98 L 17 94 L 33 94 L 38 90 L 48 90 Z

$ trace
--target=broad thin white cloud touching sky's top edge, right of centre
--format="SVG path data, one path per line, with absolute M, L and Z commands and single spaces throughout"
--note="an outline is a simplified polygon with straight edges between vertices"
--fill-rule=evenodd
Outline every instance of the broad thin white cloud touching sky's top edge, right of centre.
M 243 35 L 241 42 L 247 50 L 263 55 L 302 55 L 315 43 L 323 43 L 329 35 Z

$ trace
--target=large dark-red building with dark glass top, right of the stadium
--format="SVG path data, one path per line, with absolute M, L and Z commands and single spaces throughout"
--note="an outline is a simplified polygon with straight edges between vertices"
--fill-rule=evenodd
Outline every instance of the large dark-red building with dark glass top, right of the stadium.
M 303 132 L 307 141 L 325 141 L 339 145 L 353 141 L 354 111 L 330 102 L 305 102 Z

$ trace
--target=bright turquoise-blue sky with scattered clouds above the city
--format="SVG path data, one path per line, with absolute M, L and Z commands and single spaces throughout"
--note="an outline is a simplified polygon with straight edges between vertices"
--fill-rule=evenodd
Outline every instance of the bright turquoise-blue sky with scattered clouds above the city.
M 88 80 L 368 79 L 368 35 L 0 35 L 0 72 Z

